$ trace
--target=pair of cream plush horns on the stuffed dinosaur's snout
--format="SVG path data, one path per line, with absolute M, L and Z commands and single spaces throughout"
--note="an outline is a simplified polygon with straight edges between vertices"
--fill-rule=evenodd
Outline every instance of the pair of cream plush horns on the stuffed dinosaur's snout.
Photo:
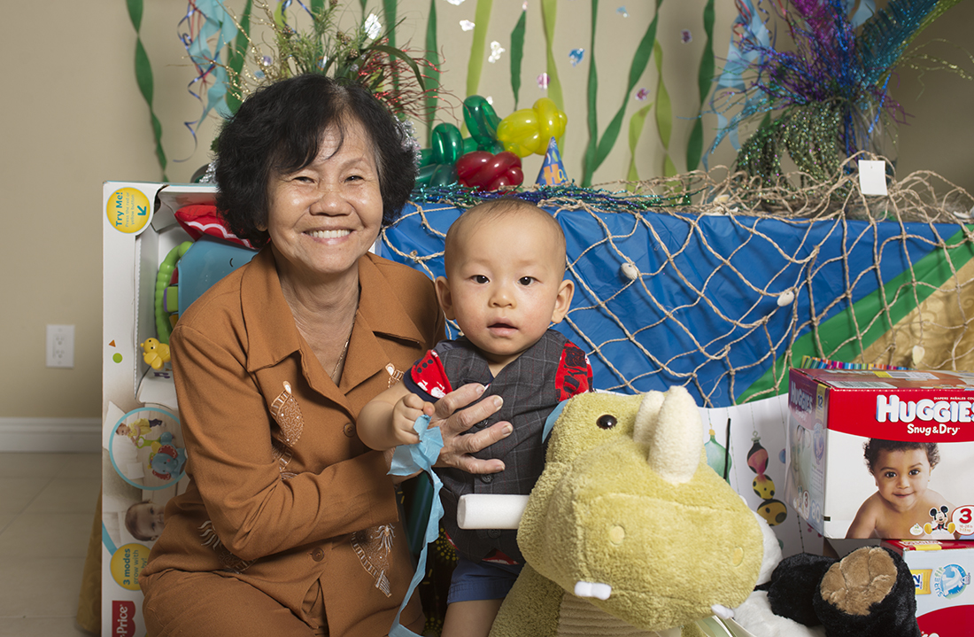
M 648 404 L 654 393 L 657 396 Z M 644 408 L 652 416 L 641 419 Z M 685 388 L 673 387 L 665 394 L 651 392 L 643 398 L 633 438 L 649 444 L 647 462 L 660 477 L 683 484 L 690 482 L 700 463 L 702 428 L 693 396 Z

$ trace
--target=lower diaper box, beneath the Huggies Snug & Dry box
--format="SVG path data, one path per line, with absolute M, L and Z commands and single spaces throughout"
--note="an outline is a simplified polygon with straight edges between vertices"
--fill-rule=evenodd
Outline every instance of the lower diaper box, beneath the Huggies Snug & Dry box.
M 974 635 L 974 543 L 884 540 L 903 556 L 917 592 L 917 623 L 924 635 Z

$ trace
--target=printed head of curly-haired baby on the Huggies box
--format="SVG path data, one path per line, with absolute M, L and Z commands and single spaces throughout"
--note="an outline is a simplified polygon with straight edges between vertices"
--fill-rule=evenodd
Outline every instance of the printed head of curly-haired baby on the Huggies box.
M 864 450 L 880 496 L 904 510 L 914 506 L 926 492 L 930 471 L 940 462 L 936 442 L 870 438 Z

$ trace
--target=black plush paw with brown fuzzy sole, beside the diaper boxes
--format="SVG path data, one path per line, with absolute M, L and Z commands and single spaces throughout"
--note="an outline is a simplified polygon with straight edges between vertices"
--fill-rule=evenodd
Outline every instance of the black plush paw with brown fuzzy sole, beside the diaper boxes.
M 880 546 L 863 546 L 833 564 L 813 604 L 828 637 L 920 636 L 910 569 Z

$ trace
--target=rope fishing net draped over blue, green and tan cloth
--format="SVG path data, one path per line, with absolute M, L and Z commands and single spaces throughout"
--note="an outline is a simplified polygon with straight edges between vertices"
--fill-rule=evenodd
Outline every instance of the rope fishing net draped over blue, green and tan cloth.
M 588 353 L 597 389 L 683 385 L 722 407 L 786 392 L 802 356 L 974 368 L 974 198 L 928 171 L 865 196 L 852 162 L 869 158 L 831 182 L 792 173 L 763 187 L 715 168 L 604 185 L 630 189 L 615 194 L 508 195 L 565 231 L 576 293 L 557 328 Z M 383 256 L 441 276 L 450 224 L 502 195 L 418 190 Z

